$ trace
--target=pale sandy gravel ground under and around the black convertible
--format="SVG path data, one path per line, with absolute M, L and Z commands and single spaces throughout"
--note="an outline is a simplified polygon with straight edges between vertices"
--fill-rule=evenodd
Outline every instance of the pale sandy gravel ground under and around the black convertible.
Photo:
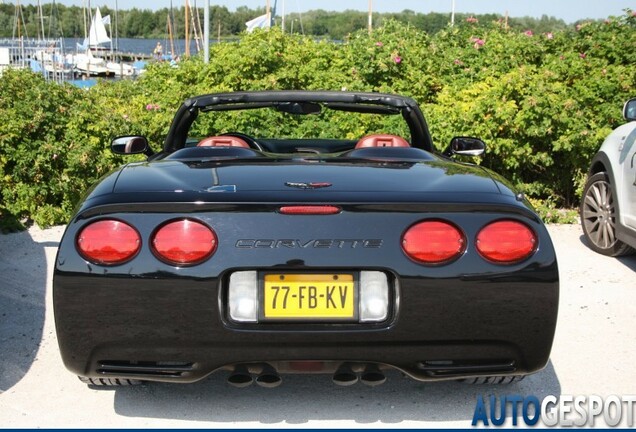
M 275 389 L 235 389 L 224 373 L 191 385 L 88 388 L 62 365 L 55 337 L 51 275 L 63 228 L 0 235 L 0 427 L 470 427 L 478 396 L 636 394 L 636 256 L 595 254 L 578 225 L 549 230 L 561 299 L 542 372 L 509 386 L 393 373 L 379 387 L 343 388 L 326 375 L 286 376 Z

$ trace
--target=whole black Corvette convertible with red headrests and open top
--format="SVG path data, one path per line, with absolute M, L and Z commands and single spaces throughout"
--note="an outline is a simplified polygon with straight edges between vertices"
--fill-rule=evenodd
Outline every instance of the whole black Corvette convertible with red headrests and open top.
M 163 148 L 103 178 L 61 241 L 55 321 L 93 385 L 245 386 L 286 373 L 510 382 L 557 318 L 548 232 L 497 174 L 434 150 L 410 98 L 270 91 L 186 100 Z

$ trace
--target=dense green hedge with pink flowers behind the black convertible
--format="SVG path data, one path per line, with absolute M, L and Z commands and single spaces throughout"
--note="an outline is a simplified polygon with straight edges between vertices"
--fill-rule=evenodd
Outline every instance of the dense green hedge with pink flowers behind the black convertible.
M 151 62 L 135 80 L 89 89 L 5 70 L 0 76 L 0 228 L 68 221 L 83 191 L 135 160 L 113 154 L 114 136 L 144 135 L 159 150 L 186 98 L 270 89 L 397 93 L 422 107 L 442 150 L 455 135 L 487 144 L 477 163 L 522 191 L 545 222 L 576 222 L 587 170 L 636 95 L 636 12 L 537 33 L 476 17 L 430 35 L 387 21 L 333 43 L 279 28 L 242 33 L 178 65 Z M 240 130 L 242 116 L 218 125 Z M 328 127 L 329 125 L 325 125 Z M 340 125 L 341 129 L 343 125 Z M 346 125 L 345 125 L 346 126 Z M 348 125 L 359 136 L 360 125 Z M 13 222 L 13 224 L 12 224 Z

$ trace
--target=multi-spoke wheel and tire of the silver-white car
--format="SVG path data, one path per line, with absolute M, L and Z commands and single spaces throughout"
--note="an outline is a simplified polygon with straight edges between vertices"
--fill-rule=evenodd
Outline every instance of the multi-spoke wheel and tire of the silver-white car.
M 583 234 L 590 248 L 603 255 L 617 257 L 634 250 L 616 238 L 616 197 L 606 173 L 587 179 L 579 215 Z

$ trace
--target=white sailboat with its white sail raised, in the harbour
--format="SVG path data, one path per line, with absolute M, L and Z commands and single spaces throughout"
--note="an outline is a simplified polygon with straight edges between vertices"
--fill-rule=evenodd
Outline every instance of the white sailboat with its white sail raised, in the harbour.
M 106 60 L 93 55 L 93 50 L 105 51 L 106 47 L 101 44 L 110 42 L 111 39 L 108 37 L 108 33 L 106 33 L 102 13 L 99 11 L 99 8 L 96 8 L 88 35 L 84 38 L 82 45 L 78 44 L 78 49 L 84 50 L 85 52 L 76 54 L 73 58 L 75 69 L 79 73 L 89 76 L 115 75 L 115 73 L 106 66 Z

